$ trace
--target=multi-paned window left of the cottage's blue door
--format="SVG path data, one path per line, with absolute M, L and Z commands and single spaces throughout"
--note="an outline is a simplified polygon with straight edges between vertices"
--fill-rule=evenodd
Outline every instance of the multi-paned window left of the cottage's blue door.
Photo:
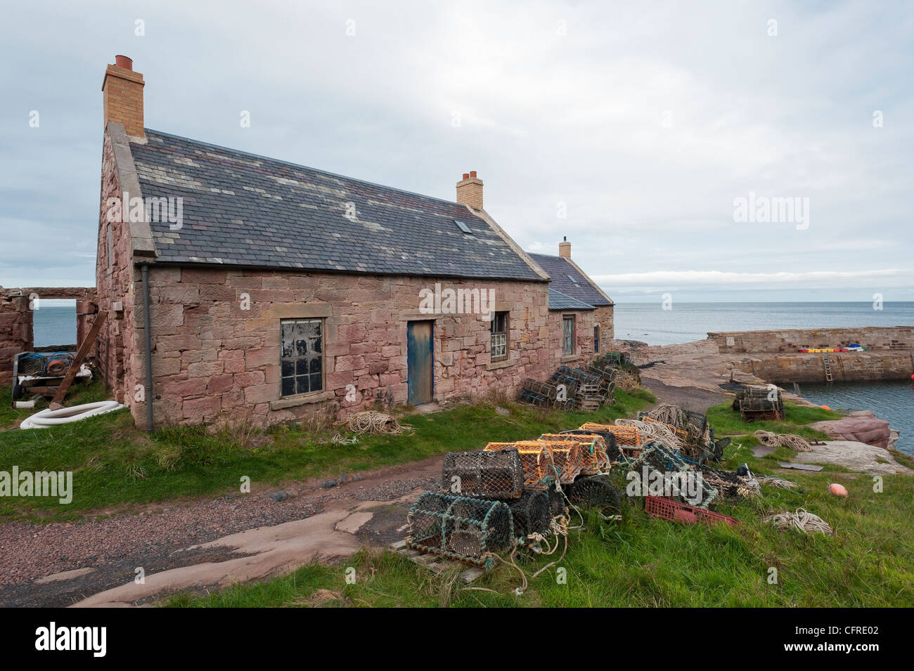
M 324 342 L 321 320 L 280 322 L 280 377 L 283 396 L 324 390 Z

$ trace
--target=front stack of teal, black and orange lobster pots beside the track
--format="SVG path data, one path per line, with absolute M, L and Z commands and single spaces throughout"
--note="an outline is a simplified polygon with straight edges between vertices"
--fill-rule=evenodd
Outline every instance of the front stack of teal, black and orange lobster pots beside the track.
M 583 429 L 449 452 L 439 491 L 409 509 L 407 545 L 489 570 L 500 553 L 562 532 L 569 508 L 619 515 L 611 455 L 620 455 L 611 432 Z

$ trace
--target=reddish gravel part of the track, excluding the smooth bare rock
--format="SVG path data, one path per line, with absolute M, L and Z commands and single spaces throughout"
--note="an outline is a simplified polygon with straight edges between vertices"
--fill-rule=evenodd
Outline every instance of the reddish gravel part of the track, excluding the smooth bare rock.
M 69 605 L 92 593 L 133 580 L 137 567 L 147 574 L 232 555 L 188 546 L 218 540 L 246 529 L 274 526 L 322 512 L 331 501 L 389 501 L 417 488 L 432 488 L 441 457 L 409 467 L 364 474 L 358 481 L 322 489 L 317 482 L 289 483 L 289 498 L 275 501 L 279 488 L 252 486 L 249 495 L 189 502 L 165 502 L 133 514 L 82 523 L 0 525 L 0 606 Z M 405 521 L 405 519 L 404 519 Z M 77 578 L 37 583 L 61 571 L 91 568 Z

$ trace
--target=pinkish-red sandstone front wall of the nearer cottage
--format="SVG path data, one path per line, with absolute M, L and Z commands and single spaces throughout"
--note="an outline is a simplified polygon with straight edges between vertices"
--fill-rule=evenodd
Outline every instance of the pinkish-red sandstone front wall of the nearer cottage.
M 435 320 L 438 401 L 490 390 L 514 394 L 524 378 L 545 379 L 559 365 L 560 313 L 548 310 L 545 282 L 207 267 L 150 272 L 156 425 L 248 415 L 275 423 L 315 412 L 342 418 L 377 400 L 405 404 L 409 320 Z M 494 290 L 493 309 L 510 313 L 506 362 L 491 361 L 491 325 L 478 314 L 420 313 L 420 289 L 436 281 L 441 288 Z M 139 315 L 140 301 L 136 308 Z M 324 392 L 282 398 L 280 320 L 294 318 L 324 320 Z M 592 328 L 586 313 L 578 320 L 582 354 L 590 351 Z M 352 401 L 345 398 L 349 384 Z M 138 424 L 142 405 L 134 405 Z

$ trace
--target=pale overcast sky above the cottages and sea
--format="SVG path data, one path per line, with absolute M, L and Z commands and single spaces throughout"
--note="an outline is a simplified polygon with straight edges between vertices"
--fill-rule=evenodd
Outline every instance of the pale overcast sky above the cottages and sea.
M 911 3 L 5 2 L 0 49 L 5 287 L 94 284 L 125 54 L 148 128 L 450 200 L 476 170 L 620 302 L 914 300 Z

